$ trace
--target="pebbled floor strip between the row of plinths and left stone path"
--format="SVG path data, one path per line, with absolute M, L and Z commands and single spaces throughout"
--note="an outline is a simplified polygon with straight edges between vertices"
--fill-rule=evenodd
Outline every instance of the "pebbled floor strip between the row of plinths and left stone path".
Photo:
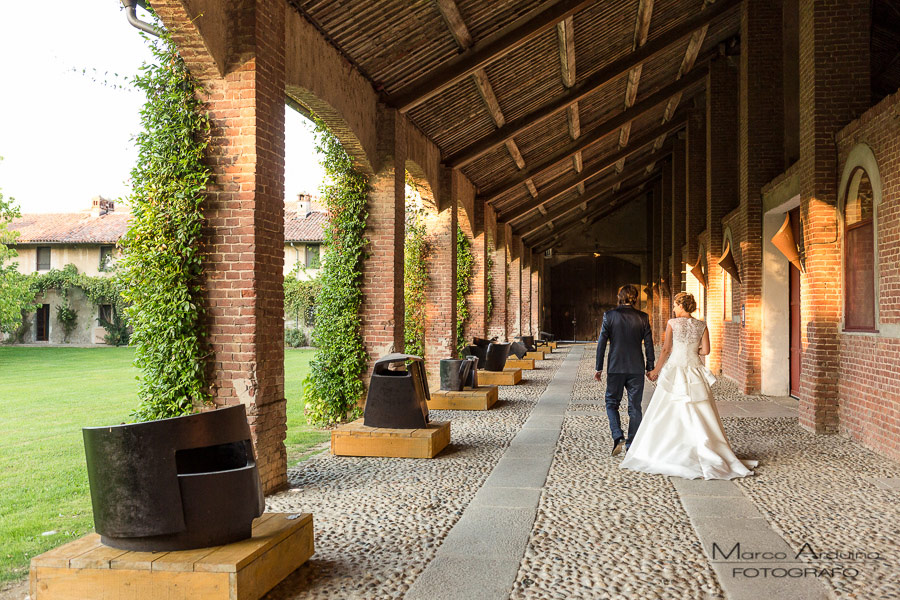
M 316 553 L 272 590 L 287 598 L 402 598 L 522 427 L 565 358 L 551 354 L 501 387 L 487 412 L 433 411 L 451 444 L 431 460 L 314 457 L 288 471 L 270 511 L 311 512 Z

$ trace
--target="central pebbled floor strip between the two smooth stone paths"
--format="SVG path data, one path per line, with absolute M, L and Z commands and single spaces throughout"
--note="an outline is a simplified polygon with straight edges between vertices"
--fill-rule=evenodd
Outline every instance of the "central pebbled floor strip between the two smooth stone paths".
M 575 381 L 582 407 L 603 406 L 593 361 Z M 620 469 L 610 449 L 605 417 L 566 417 L 511 597 L 722 597 L 669 480 Z

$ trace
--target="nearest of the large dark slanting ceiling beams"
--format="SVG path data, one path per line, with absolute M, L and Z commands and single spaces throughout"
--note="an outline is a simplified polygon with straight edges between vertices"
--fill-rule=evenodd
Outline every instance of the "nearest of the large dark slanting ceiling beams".
M 445 65 L 419 77 L 397 93 L 392 94 L 387 102 L 401 113 L 405 113 L 470 76 L 476 70 L 486 67 L 498 58 L 528 43 L 556 23 L 587 8 L 594 1 L 550 0 L 545 2 L 463 51 Z M 438 4 L 438 8 L 441 8 L 440 4 Z M 453 25 L 449 20 L 448 25 L 452 30 Z

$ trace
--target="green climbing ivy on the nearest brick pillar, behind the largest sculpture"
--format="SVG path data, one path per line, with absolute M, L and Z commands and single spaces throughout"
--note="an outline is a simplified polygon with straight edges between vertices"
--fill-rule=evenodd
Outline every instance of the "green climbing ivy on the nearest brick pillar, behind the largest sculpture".
M 201 308 L 201 205 L 210 178 L 209 116 L 200 84 L 168 32 L 145 36 L 154 60 L 133 84 L 141 109 L 130 228 L 121 240 L 122 294 L 134 328 L 141 421 L 189 414 L 209 402 Z

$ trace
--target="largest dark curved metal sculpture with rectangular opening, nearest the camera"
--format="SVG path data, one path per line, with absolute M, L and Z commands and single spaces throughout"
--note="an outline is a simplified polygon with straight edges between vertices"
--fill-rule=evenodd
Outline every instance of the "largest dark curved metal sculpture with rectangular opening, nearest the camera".
M 265 509 L 243 405 L 82 433 L 94 528 L 107 546 L 230 544 L 249 538 Z

